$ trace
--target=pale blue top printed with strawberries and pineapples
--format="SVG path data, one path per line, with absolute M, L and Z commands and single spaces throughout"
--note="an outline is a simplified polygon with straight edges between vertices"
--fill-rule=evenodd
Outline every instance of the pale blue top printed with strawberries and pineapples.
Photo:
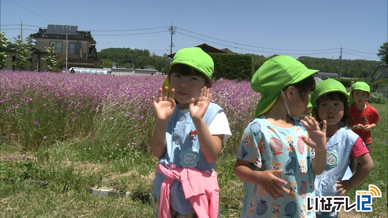
M 314 175 L 311 160 L 314 150 L 301 135 L 308 135 L 299 119 L 292 128 L 270 124 L 264 116 L 256 118 L 245 129 L 237 158 L 251 163 L 252 170 L 280 170 L 281 178 L 291 192 L 273 199 L 260 185 L 244 182 L 245 195 L 240 217 L 315 217 L 306 211 L 306 197 L 314 197 Z

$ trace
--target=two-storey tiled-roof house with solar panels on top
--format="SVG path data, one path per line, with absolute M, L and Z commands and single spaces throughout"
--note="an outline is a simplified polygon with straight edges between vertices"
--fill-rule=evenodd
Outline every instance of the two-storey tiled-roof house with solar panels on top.
M 54 43 L 55 53 L 66 57 L 66 36 L 68 67 L 97 67 L 96 41 L 90 31 L 79 31 L 78 26 L 47 25 L 46 29 L 39 28 L 38 33 L 31 34 L 36 40 L 35 47 L 41 52 L 39 69 L 44 71 L 45 47 Z M 65 64 L 64 64 L 65 66 Z

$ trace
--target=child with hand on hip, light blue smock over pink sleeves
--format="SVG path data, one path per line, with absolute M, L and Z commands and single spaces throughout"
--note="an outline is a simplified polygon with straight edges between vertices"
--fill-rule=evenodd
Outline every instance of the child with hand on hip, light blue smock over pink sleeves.
M 312 93 L 313 116 L 326 121 L 327 163 L 325 171 L 315 178 L 316 196 L 342 196 L 358 185 L 369 174 L 373 161 L 362 139 L 345 126 L 348 119 L 348 94 L 345 87 L 334 79 L 317 83 Z M 351 158 L 360 162 L 354 175 L 343 180 Z M 331 212 L 317 212 L 317 218 L 337 217 Z

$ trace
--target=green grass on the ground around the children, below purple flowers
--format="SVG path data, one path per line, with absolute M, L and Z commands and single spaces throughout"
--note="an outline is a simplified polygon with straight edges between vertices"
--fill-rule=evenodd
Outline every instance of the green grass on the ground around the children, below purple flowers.
M 386 217 L 388 105 L 372 106 L 376 107 L 382 119 L 372 131 L 375 165 L 367 178 L 348 192 L 348 196 L 354 200 L 355 190 L 367 190 L 369 184 L 374 184 L 380 188 L 383 197 L 373 199 L 371 213 L 348 213 L 352 217 Z M 90 138 L 55 141 L 27 153 L 31 165 L 24 169 L 25 164 L 16 164 L 25 161 L 21 159 L 23 149 L 2 144 L 0 216 L 152 217 L 149 198 L 157 159 L 143 148 L 143 145 L 135 144 L 100 145 Z M 99 149 L 106 151 L 100 152 Z M 13 163 L 8 161 L 9 156 L 15 157 Z M 217 161 L 222 217 L 239 217 L 242 209 L 244 190 L 242 181 L 234 175 L 235 159 L 234 154 L 224 152 Z M 42 169 L 40 174 L 36 172 L 37 168 Z M 7 175 L 21 179 L 7 180 Z M 37 184 L 26 183 L 28 179 L 38 179 L 49 185 L 43 189 Z M 90 186 L 115 187 L 130 192 L 130 197 L 94 198 L 86 190 Z

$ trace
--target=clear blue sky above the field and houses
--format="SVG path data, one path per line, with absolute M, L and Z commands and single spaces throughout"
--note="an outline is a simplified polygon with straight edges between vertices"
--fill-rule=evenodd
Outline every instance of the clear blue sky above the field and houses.
M 31 25 L 24 26 L 24 36 L 38 31 L 33 26 L 68 24 L 92 31 L 98 51 L 129 47 L 163 55 L 170 54 L 166 27 L 173 23 L 173 52 L 207 43 L 237 53 L 336 59 L 342 46 L 343 59 L 378 61 L 378 48 L 388 41 L 387 11 L 387 0 L 0 0 L 0 29 L 13 41 L 20 25 L 12 24 L 21 21 Z M 96 31 L 147 28 L 159 29 Z M 150 34 L 113 36 L 134 33 Z

